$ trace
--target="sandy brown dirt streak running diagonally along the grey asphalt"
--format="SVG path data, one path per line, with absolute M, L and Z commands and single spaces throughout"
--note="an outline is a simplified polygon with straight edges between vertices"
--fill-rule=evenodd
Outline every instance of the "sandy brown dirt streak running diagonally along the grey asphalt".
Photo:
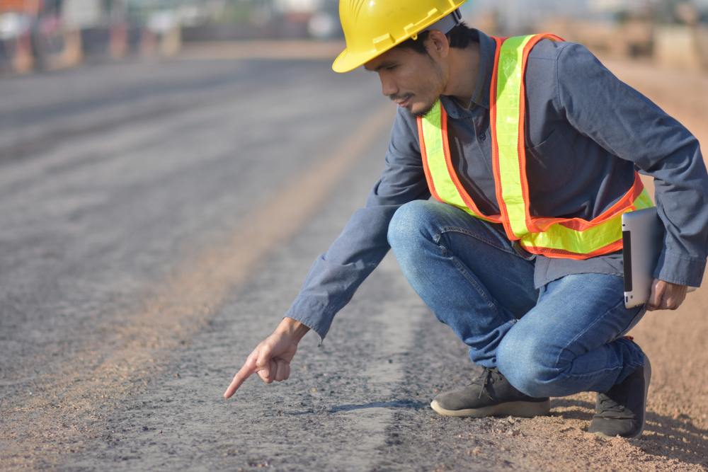
M 335 156 L 316 163 L 244 217 L 241 228 L 224 243 L 191 258 L 169 280 L 155 284 L 150 291 L 154 296 L 141 309 L 114 316 L 102 329 L 105 338 L 81 350 L 100 358 L 98 367 L 81 374 L 72 359 L 53 374 L 38 378 L 30 400 L 13 406 L 6 403 L 0 443 L 8 446 L 0 450 L 0 464 L 4 468 L 58 464 L 69 452 L 58 444 L 70 441 L 74 450 L 83 448 L 90 428 L 72 430 L 72 417 L 79 412 L 100 421 L 147 379 L 161 374 L 181 343 L 204 326 L 234 286 L 246 281 L 273 248 L 292 238 L 316 212 L 358 156 L 382 129 L 389 129 L 392 117 L 390 104 L 370 115 Z M 38 411 L 44 413 L 37 415 Z M 14 441 L 18 431 L 23 432 L 21 442 Z M 55 432 L 54 436 L 47 437 L 47 431 Z

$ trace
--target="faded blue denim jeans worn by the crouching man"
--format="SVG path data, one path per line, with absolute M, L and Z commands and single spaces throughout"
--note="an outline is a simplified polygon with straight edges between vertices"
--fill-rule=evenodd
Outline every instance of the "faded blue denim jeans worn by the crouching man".
M 434 201 L 398 209 L 388 240 L 404 275 L 469 357 L 534 397 L 608 391 L 644 363 L 622 338 L 644 309 L 624 308 L 621 277 L 566 275 L 535 289 L 534 261 L 501 224 Z

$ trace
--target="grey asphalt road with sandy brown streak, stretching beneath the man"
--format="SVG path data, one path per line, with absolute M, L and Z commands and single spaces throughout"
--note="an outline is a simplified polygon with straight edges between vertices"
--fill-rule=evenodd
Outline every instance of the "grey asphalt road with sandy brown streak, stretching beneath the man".
M 657 414 L 677 449 L 602 442 L 590 396 L 535 420 L 435 415 L 479 369 L 390 255 L 289 381 L 222 398 L 384 166 L 375 75 L 102 64 L 3 78 L 0 97 L 0 468 L 704 470 L 706 439 L 695 460 L 678 447 L 700 427 Z

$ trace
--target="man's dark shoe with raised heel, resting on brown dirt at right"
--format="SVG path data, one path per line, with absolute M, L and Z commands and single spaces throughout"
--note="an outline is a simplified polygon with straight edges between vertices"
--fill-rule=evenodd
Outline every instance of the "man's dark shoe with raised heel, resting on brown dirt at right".
M 595 416 L 588 432 L 600 437 L 639 437 L 644 431 L 646 392 L 651 380 L 651 364 L 644 355 L 644 367 L 639 366 L 619 384 L 605 393 L 598 393 Z

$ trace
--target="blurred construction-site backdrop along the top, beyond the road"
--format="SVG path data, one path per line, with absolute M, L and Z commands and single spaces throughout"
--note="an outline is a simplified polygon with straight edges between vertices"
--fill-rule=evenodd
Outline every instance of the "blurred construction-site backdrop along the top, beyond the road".
M 708 0 L 471 0 L 489 34 L 549 31 L 596 54 L 708 67 Z M 172 57 L 200 43 L 342 40 L 338 0 L 0 0 L 0 73 Z

